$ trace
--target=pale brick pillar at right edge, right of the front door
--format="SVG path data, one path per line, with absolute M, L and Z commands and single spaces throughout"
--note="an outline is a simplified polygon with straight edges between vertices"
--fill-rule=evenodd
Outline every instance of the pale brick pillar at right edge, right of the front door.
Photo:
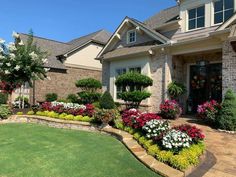
M 228 89 L 236 92 L 236 52 L 229 41 L 223 44 L 223 94 Z

